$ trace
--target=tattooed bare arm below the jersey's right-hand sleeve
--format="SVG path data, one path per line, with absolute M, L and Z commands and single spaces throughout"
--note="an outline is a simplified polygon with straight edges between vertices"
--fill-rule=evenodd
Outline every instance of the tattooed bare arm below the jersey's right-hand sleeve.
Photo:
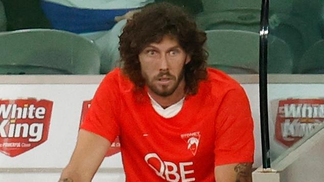
M 251 182 L 252 164 L 236 163 L 216 166 L 215 179 L 217 182 Z

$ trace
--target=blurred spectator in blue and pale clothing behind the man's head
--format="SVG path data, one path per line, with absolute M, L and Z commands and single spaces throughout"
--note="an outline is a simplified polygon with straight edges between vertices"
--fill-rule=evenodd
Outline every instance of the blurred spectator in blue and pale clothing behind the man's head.
M 153 0 L 41 0 L 41 8 L 54 29 L 84 36 L 96 43 L 101 55 L 101 73 L 120 59 L 118 36 L 127 18 Z M 124 21 L 123 21 L 124 20 Z

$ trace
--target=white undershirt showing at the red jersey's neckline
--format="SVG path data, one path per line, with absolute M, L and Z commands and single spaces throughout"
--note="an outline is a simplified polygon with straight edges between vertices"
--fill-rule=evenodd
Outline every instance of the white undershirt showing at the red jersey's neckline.
M 165 117 L 165 118 L 171 118 L 175 115 L 177 115 L 182 106 L 183 106 L 183 101 L 184 101 L 184 97 L 181 98 L 181 100 L 179 100 L 177 103 L 174 103 L 173 105 L 169 106 L 166 109 L 163 109 L 163 107 L 161 107 L 161 105 L 159 105 L 159 103 L 157 103 L 149 93 L 147 93 L 151 99 L 151 104 L 152 107 L 154 108 L 154 110 L 161 116 Z

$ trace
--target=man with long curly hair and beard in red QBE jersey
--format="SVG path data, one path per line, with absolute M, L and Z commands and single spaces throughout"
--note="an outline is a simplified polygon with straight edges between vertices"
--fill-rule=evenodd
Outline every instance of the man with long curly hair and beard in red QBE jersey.
M 239 83 L 206 68 L 205 41 L 180 8 L 134 14 L 122 66 L 100 84 L 60 181 L 90 181 L 117 136 L 126 181 L 251 181 L 249 102 Z

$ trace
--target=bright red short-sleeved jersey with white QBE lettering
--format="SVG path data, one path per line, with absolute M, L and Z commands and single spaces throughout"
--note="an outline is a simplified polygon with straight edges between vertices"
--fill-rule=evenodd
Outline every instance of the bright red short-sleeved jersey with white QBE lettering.
M 117 68 L 103 79 L 81 128 L 111 143 L 120 137 L 126 181 L 215 181 L 215 166 L 253 162 L 253 121 L 240 84 L 207 72 L 198 93 L 164 118 Z

